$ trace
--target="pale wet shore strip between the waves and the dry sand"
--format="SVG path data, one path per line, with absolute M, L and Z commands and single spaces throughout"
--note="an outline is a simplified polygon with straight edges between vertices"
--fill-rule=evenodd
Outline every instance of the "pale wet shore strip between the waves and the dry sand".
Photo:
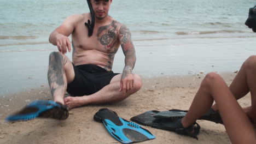
M 235 40 L 235 42 L 234 42 Z M 137 61 L 133 73 L 145 76 L 192 75 L 200 71 L 234 72 L 254 51 L 253 38 L 168 39 L 134 41 Z M 49 55 L 57 51 L 51 44 L 2 46 L 0 52 L 0 98 L 48 83 Z M 43 51 L 40 51 L 43 50 Z M 221 52 L 220 52 L 221 50 Z M 72 59 L 72 52 L 66 53 Z M 114 58 L 114 73 L 122 73 L 124 54 L 119 48 Z

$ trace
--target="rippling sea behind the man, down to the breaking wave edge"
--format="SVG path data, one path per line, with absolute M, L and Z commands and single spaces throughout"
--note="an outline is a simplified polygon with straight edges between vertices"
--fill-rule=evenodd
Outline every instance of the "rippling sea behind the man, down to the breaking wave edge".
M 16 45 L 31 44 L 42 50 L 40 44 L 48 44 L 49 34 L 67 16 L 89 12 L 85 0 L 0 2 L 0 52 L 28 50 Z M 244 24 L 254 4 L 255 0 L 114 0 L 109 15 L 127 25 L 136 41 L 255 37 Z

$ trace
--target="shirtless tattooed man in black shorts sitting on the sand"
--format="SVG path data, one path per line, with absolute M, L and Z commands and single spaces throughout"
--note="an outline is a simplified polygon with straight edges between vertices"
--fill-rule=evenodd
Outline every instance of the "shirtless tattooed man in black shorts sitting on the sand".
M 132 74 L 136 62 L 129 29 L 108 15 L 112 0 L 91 0 L 95 13 L 94 32 L 88 37 L 85 22 L 90 13 L 74 14 L 49 37 L 58 47 L 49 58 L 48 81 L 54 101 L 69 108 L 91 103 L 121 101 L 141 88 L 141 78 Z M 72 34 L 72 43 L 68 36 Z M 65 53 L 71 52 L 72 62 Z M 125 55 L 122 74 L 112 70 L 119 46 Z M 64 98 L 65 92 L 71 97 Z

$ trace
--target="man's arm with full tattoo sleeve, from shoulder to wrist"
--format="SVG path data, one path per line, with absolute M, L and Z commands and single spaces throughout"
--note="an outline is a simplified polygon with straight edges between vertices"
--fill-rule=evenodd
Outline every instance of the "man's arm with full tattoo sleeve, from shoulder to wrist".
M 131 32 L 129 29 L 123 25 L 121 26 L 119 33 L 120 44 L 125 55 L 125 67 L 121 79 L 125 79 L 127 75 L 132 73 L 132 69 L 134 68 L 136 62 L 136 55 L 135 48 L 131 41 Z

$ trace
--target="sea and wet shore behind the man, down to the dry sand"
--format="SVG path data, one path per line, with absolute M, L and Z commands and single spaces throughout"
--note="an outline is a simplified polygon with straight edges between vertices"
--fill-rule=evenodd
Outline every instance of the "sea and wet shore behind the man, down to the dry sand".
M 0 0 L 0 95 L 47 82 L 49 34 L 86 1 Z M 245 26 L 255 0 L 113 0 L 109 15 L 132 33 L 145 77 L 235 71 L 255 54 L 256 33 Z M 71 54 L 67 54 L 71 58 Z M 121 73 L 121 49 L 113 70 Z

